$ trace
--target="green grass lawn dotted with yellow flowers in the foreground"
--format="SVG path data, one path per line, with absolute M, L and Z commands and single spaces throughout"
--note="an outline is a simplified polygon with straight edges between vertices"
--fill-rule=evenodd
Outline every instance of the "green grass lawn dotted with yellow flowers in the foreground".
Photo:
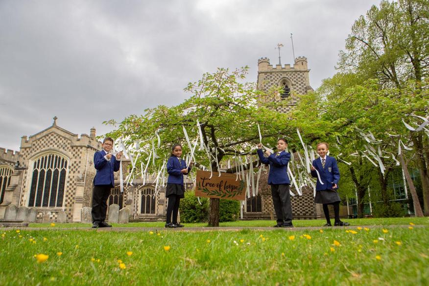
M 56 225 L 1 231 L 0 285 L 429 285 L 429 227 L 418 227 L 428 225 L 428 218 L 366 219 L 362 224 L 370 221 L 385 227 L 156 233 L 60 230 Z M 395 227 L 395 221 L 416 226 Z M 297 226 L 321 224 L 315 222 L 294 221 Z M 228 226 L 260 223 L 273 224 Z M 137 226 L 142 224 L 160 226 Z M 38 262 L 37 254 L 48 259 Z

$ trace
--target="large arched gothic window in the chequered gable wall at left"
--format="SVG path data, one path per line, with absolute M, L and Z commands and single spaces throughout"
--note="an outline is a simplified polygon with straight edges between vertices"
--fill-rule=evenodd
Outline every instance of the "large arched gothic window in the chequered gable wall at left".
M 62 207 L 69 160 L 49 153 L 34 161 L 29 207 Z

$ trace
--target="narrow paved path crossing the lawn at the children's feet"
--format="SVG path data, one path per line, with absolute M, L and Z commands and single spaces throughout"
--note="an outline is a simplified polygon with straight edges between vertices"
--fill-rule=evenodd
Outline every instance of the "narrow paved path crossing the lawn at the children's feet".
M 90 227 L 14 227 L 14 228 L 0 228 L 0 231 L 20 229 L 28 231 L 37 230 L 51 230 L 51 231 L 70 231 L 70 230 L 82 230 L 82 231 L 97 231 L 97 232 L 149 232 L 149 231 L 174 231 L 174 232 L 201 232 L 201 231 L 306 231 L 306 230 L 330 230 L 330 229 L 351 229 L 356 230 L 357 227 L 367 228 L 390 228 L 390 227 L 401 227 L 408 228 L 410 225 L 352 225 L 352 226 L 335 226 L 335 227 L 320 227 L 320 226 L 309 226 L 309 227 L 294 227 L 294 228 L 274 228 L 274 227 L 258 227 L 258 226 L 221 226 L 221 227 L 184 227 L 184 228 L 164 228 L 164 227 L 106 227 L 93 229 Z M 429 227 L 428 225 L 414 225 L 415 228 Z

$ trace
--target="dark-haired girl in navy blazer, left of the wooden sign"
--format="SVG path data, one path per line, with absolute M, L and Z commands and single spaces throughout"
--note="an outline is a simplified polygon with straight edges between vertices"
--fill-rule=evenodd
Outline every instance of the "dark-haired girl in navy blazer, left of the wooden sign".
M 180 156 L 182 156 L 182 145 L 174 144 L 167 162 L 169 176 L 166 191 L 166 197 L 168 198 L 166 227 L 171 228 L 184 227 L 183 224 L 177 222 L 177 214 L 179 213 L 180 199 L 185 197 L 183 174 L 188 174 L 192 166 L 192 163 L 190 163 L 189 167 L 186 167 L 185 161 L 180 159 Z M 171 214 L 173 215 L 172 222 Z

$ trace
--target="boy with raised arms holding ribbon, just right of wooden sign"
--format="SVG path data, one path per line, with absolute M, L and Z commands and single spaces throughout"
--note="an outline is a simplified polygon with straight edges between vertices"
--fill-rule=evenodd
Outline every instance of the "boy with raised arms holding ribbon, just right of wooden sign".
M 274 227 L 293 227 L 292 207 L 290 205 L 289 177 L 287 176 L 287 164 L 290 154 L 285 151 L 287 141 L 280 138 L 277 141 L 277 153 L 271 154 L 265 151 L 268 157 L 263 156 L 262 143 L 258 144 L 258 156 L 262 163 L 270 165 L 268 185 L 271 185 L 274 210 L 277 216 L 277 224 Z

